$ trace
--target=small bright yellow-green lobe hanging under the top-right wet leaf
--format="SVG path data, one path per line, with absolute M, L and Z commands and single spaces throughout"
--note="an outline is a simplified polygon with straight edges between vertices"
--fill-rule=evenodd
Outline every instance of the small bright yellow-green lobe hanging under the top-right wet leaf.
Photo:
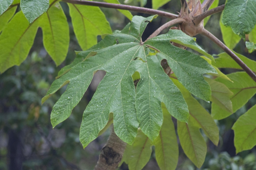
M 239 41 L 242 39 L 239 35 L 236 35 L 232 28 L 226 27 L 222 24 L 222 14 L 220 16 L 220 31 L 222 34 L 223 42 L 227 45 L 229 49 L 234 49 L 236 47 L 236 44 L 239 43 Z

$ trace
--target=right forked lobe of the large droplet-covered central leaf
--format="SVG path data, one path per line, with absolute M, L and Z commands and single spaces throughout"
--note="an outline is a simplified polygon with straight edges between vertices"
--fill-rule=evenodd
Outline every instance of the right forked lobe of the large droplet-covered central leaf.
M 171 45 L 171 36 L 175 37 L 173 34 L 168 34 L 168 38 L 165 38 L 166 35 L 160 35 L 148 40 L 145 44 L 160 51 L 156 55 L 167 60 L 178 80 L 192 94 L 205 101 L 210 101 L 211 89 L 202 74 L 217 73 L 216 70 L 203 58 Z

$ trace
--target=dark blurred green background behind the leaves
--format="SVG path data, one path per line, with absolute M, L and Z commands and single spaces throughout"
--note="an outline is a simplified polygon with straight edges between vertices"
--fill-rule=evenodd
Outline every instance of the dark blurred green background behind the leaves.
M 120 1 L 123 4 L 123 1 Z M 140 6 L 140 1 L 127 1 L 130 5 Z M 144 2 L 146 2 L 144 0 Z M 225 0 L 220 0 L 224 4 Z M 98 155 L 107 141 L 109 131 L 92 141 L 83 149 L 79 141 L 79 128 L 82 114 L 91 100 L 97 85 L 104 77 L 104 72 L 97 72 L 84 97 L 72 111 L 71 116 L 54 129 L 50 123 L 50 113 L 53 105 L 65 91 L 66 86 L 57 91 L 43 105 L 41 99 L 46 94 L 58 71 L 70 64 L 76 57 L 75 50 L 81 50 L 73 32 L 68 6 L 61 3 L 68 18 L 70 28 L 70 45 L 66 60 L 58 67 L 44 50 L 42 30 L 39 28 L 34 45 L 28 58 L 20 65 L 8 69 L 0 75 L 0 170 L 59 170 L 59 169 L 93 169 Z M 148 0 L 145 7 L 151 8 Z M 172 0 L 160 10 L 176 13 L 180 11 L 180 0 Z M 101 8 L 105 13 L 112 30 L 121 30 L 129 20 L 115 9 Z M 18 9 L 19 10 L 19 9 Z M 147 14 L 132 12 L 133 15 L 148 17 Z M 177 13 L 176 13 L 177 14 Z M 214 14 L 205 28 L 220 40 L 220 13 Z M 143 39 L 145 40 L 168 19 L 158 17 L 148 24 Z M 168 30 L 164 30 L 163 33 Z M 223 52 L 217 45 L 202 35 L 197 35 L 197 43 L 210 54 Z M 100 36 L 99 36 L 100 41 Z M 188 49 L 189 50 L 189 49 Z M 248 54 L 244 40 L 241 40 L 236 52 L 255 60 L 255 52 Z M 223 73 L 232 73 L 234 69 L 221 69 Z M 211 104 L 197 98 L 210 113 Z M 209 170 L 256 170 L 256 148 L 243 151 L 236 155 L 234 147 L 234 132 L 232 125 L 238 117 L 256 104 L 254 96 L 249 102 L 233 115 L 216 121 L 220 130 L 220 143 L 216 147 L 204 135 L 207 142 L 207 155 L 201 169 Z M 176 125 L 176 122 L 174 122 Z M 202 132 L 203 133 L 203 132 Z M 193 163 L 186 157 L 179 146 L 180 156 L 177 170 L 195 170 Z M 120 169 L 127 170 L 123 164 Z M 154 147 L 151 159 L 143 168 L 157 170 Z

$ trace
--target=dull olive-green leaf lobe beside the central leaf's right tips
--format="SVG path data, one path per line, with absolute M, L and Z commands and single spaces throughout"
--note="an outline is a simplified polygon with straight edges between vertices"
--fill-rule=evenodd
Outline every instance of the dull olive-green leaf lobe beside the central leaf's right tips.
M 232 103 L 229 99 L 230 96 L 233 95 L 232 91 L 230 91 L 227 86 L 224 84 L 214 81 L 209 78 L 204 78 L 211 86 L 212 90 L 212 99 L 211 101 L 217 104 L 220 108 L 225 109 L 226 111 L 233 113 Z

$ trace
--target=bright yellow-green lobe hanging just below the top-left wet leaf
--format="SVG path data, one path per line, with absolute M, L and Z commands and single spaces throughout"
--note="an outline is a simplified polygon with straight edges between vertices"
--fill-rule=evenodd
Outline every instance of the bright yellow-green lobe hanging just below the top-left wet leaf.
M 54 2 L 50 2 L 51 7 L 39 18 L 39 25 L 43 30 L 44 48 L 58 66 L 68 53 L 69 27 L 60 4 L 52 5 Z

